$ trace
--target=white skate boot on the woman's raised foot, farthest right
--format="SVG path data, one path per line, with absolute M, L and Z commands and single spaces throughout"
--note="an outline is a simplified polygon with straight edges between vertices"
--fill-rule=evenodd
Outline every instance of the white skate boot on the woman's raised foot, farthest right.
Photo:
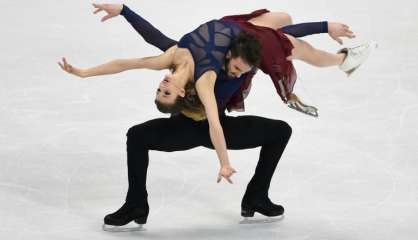
M 341 49 L 338 53 L 345 53 L 347 56 L 339 68 L 344 71 L 347 76 L 350 76 L 366 61 L 370 53 L 376 49 L 377 46 L 376 42 L 370 42 L 353 48 Z

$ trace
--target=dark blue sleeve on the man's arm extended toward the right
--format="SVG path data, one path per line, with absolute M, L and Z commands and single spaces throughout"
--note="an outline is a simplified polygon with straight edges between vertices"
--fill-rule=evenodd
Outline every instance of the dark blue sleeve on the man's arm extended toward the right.
M 304 37 L 318 33 L 328 33 L 328 22 L 310 22 L 288 25 L 283 27 L 283 33 L 293 37 Z

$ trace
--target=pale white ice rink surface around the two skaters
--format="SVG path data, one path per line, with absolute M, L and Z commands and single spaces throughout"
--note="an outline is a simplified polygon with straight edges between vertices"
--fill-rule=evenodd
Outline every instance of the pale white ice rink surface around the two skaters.
M 164 117 L 153 97 L 166 72 L 78 79 L 58 67 L 158 54 L 118 17 L 101 23 L 90 1 L 0 2 L 0 239 L 412 240 L 418 237 L 418 4 L 400 1 L 125 1 L 179 39 L 199 24 L 259 8 L 295 23 L 339 21 L 345 46 L 379 49 L 352 77 L 295 62 L 297 92 L 314 119 L 287 108 L 261 72 L 245 114 L 293 127 L 270 197 L 274 224 L 240 225 L 240 201 L 259 149 L 230 151 L 234 184 L 217 184 L 212 150 L 150 153 L 147 231 L 108 233 L 103 217 L 127 190 L 125 133 Z M 331 52 L 328 35 L 306 37 Z M 236 115 L 236 114 L 235 114 Z

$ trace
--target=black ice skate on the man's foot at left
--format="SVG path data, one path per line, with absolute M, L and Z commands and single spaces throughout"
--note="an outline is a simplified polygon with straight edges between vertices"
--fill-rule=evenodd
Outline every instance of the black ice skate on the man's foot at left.
M 116 212 L 105 216 L 103 230 L 110 232 L 140 231 L 143 229 L 142 225 L 147 223 L 148 213 L 148 203 L 145 203 L 144 207 L 125 203 Z M 135 221 L 139 226 L 125 226 L 132 221 Z

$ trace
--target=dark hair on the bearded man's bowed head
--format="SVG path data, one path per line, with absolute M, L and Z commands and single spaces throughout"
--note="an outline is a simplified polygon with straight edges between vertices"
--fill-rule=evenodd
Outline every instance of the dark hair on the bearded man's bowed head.
M 253 35 L 241 32 L 231 42 L 231 56 L 256 67 L 261 61 L 261 44 Z

